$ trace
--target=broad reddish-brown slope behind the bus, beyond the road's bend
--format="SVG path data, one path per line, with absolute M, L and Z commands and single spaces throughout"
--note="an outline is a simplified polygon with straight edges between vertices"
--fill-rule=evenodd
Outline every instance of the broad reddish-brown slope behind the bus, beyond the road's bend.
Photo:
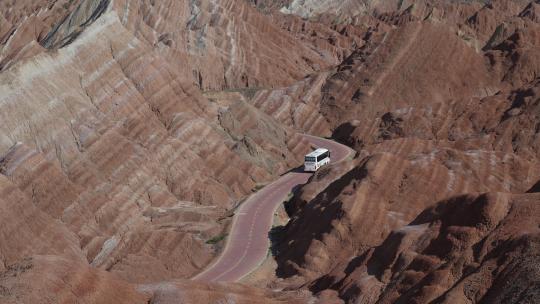
M 255 104 L 280 119 L 291 96 L 304 96 L 302 101 L 314 109 L 311 112 L 318 110 L 333 129 L 352 120 L 369 124 L 372 117 L 390 109 L 433 107 L 496 90 L 484 58 L 443 25 L 411 22 L 393 30 L 373 30 L 368 37 L 333 73 L 286 90 L 261 93 Z M 305 90 L 310 93 L 303 93 Z M 272 110 L 271 104 L 275 104 Z M 294 126 L 311 130 L 315 116 L 299 116 Z

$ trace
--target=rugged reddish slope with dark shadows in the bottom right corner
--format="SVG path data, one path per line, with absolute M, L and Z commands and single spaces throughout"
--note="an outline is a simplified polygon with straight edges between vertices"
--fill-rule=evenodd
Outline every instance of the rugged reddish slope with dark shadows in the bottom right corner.
M 351 302 L 534 303 L 538 199 L 488 193 L 441 202 L 317 284 L 336 282 Z

